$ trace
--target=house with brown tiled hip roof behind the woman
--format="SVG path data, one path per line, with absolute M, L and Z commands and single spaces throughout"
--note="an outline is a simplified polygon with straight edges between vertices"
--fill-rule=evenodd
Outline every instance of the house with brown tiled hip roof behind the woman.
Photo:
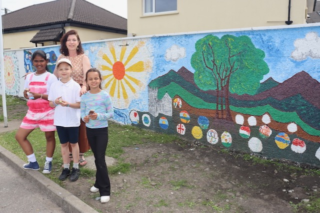
M 75 29 L 81 41 L 126 37 L 127 20 L 86 0 L 54 0 L 2 15 L 3 48 L 59 44 Z

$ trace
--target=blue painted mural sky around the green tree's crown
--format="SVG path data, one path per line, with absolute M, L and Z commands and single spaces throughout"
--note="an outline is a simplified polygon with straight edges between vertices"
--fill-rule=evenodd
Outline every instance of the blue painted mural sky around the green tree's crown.
M 306 39 L 308 33 L 312 34 L 313 37 L 309 36 L 311 38 Z M 177 71 L 182 66 L 194 72 L 190 59 L 195 51 L 195 42 L 207 34 L 213 34 L 217 37 L 224 34 L 249 36 L 255 47 L 265 52 L 264 60 L 269 67 L 269 73 L 264 76 L 261 82 L 269 77 L 278 82 L 283 82 L 302 70 L 320 81 L 320 54 L 317 52 L 320 51 L 320 27 L 318 26 L 152 37 L 154 61 L 150 81 L 167 73 L 170 69 Z M 296 49 L 294 41 L 297 39 L 300 41 L 300 46 L 295 53 L 300 59 L 291 57 L 292 52 Z M 167 60 L 165 54 L 172 45 L 184 48 L 185 56 L 176 61 Z M 302 53 L 299 54 L 299 51 Z M 304 55 L 305 59 L 301 59 L 301 55 Z

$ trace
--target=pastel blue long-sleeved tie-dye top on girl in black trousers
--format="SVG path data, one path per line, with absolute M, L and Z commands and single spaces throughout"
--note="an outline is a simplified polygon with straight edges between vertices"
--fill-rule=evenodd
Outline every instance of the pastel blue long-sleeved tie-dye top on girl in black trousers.
M 96 120 L 90 119 L 88 123 L 85 123 L 85 126 L 90 129 L 105 128 L 108 126 L 107 120 L 114 117 L 111 97 L 104 90 L 96 94 L 91 94 L 89 90 L 81 96 L 80 105 L 82 120 L 90 110 L 97 113 Z

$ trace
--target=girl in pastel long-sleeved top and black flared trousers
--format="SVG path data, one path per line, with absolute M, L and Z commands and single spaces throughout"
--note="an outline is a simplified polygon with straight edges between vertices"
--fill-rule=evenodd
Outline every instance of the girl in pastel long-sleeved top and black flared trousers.
M 85 74 L 89 90 L 81 96 L 81 119 L 86 126 L 86 135 L 95 158 L 96 175 L 91 192 L 100 193 L 101 203 L 110 199 L 110 181 L 105 164 L 105 150 L 108 143 L 108 121 L 114 112 L 110 95 L 101 88 L 101 74 L 95 68 Z

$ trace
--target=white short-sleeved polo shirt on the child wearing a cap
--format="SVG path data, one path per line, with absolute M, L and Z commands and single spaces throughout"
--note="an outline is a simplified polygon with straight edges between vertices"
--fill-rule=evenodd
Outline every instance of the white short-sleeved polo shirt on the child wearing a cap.
M 71 104 L 80 102 L 80 90 L 80 85 L 72 79 L 66 83 L 59 80 L 51 85 L 48 100 L 54 101 L 56 98 L 62 97 L 62 100 Z M 61 127 L 80 126 L 80 109 L 57 105 L 54 108 L 53 124 Z

